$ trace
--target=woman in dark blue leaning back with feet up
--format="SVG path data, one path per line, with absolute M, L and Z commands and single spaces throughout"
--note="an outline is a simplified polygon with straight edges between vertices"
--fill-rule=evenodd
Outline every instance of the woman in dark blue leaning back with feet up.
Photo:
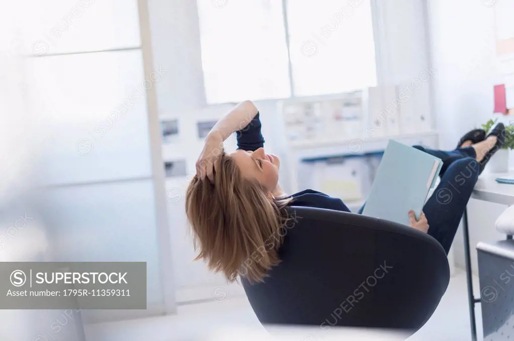
M 238 148 L 226 154 L 223 141 L 233 132 Z M 487 137 L 483 130 L 470 131 L 452 151 L 414 146 L 442 159 L 443 167 L 424 213 L 417 219 L 413 211 L 405 213 L 410 226 L 434 237 L 448 253 L 476 180 L 504 141 L 505 127 L 498 124 Z M 285 194 L 279 185 L 280 159 L 263 147 L 258 109 L 250 101 L 238 104 L 210 131 L 187 189 L 186 211 L 199 250 L 196 259 L 206 260 L 229 281 L 238 275 L 262 281 L 280 262 L 281 240 L 276 236 L 288 220 L 286 206 L 350 212 L 341 199 L 320 192 Z M 250 258 L 252 266 L 247 267 Z

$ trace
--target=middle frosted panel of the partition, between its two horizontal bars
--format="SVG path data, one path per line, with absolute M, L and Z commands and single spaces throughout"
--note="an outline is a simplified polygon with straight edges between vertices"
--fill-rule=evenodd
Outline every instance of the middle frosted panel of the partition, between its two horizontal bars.
M 38 149 L 45 156 L 40 182 L 151 174 L 145 98 L 149 85 L 141 51 L 31 58 L 27 77 L 33 124 L 41 131 Z

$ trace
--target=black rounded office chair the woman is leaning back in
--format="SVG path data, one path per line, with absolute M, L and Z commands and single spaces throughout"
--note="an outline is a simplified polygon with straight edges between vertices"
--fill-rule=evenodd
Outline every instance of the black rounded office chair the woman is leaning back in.
M 263 283 L 242 278 L 263 325 L 401 329 L 435 311 L 450 268 L 441 245 L 409 226 L 332 210 L 290 207 L 279 254 Z

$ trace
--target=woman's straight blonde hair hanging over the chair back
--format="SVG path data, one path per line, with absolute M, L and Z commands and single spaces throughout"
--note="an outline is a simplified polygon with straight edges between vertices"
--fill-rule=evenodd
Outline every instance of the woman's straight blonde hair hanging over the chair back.
M 292 199 L 268 197 L 224 152 L 217 162 L 214 184 L 195 176 L 186 193 L 186 213 L 199 251 L 195 260 L 205 260 L 229 282 L 238 275 L 263 281 L 280 262 L 281 228 L 289 220 L 285 207 Z

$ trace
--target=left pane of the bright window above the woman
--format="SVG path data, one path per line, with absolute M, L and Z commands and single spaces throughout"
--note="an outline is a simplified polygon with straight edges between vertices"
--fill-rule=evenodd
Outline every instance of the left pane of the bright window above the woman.
M 208 103 L 290 96 L 282 2 L 198 0 Z

